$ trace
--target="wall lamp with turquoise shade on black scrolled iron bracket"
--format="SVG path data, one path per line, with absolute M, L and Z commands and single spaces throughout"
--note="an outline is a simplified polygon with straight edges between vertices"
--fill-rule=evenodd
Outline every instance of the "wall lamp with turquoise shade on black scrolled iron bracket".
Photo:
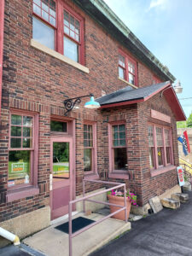
M 99 102 L 95 102 L 94 100 L 94 95 L 92 93 L 90 93 L 89 95 L 85 95 L 85 96 L 79 96 L 79 97 L 75 97 L 75 98 L 71 98 L 71 99 L 67 99 L 65 100 L 64 106 L 66 108 L 66 112 L 64 113 L 64 115 L 67 115 L 68 112 L 70 112 L 71 110 L 73 110 L 74 106 L 78 103 L 81 102 L 81 99 L 84 97 L 89 97 L 90 96 L 90 102 L 86 102 L 84 104 L 84 108 L 90 108 L 90 109 L 96 109 L 96 108 L 100 108 L 100 104 Z

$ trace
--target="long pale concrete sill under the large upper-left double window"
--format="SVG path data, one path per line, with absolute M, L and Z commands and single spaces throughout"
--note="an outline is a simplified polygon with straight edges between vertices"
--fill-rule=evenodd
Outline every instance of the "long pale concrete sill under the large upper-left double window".
M 79 70 L 83 71 L 84 73 L 90 73 L 89 68 L 84 67 L 83 65 L 79 64 L 78 62 L 72 61 L 71 59 L 67 58 L 64 55 L 61 55 L 54 49 L 49 49 L 48 47 L 44 46 L 44 44 L 40 44 L 34 39 L 31 39 L 31 46 L 35 49 L 41 50 L 44 53 L 51 55 L 52 57 L 55 57 L 56 59 L 63 61 L 73 67 L 78 68 Z

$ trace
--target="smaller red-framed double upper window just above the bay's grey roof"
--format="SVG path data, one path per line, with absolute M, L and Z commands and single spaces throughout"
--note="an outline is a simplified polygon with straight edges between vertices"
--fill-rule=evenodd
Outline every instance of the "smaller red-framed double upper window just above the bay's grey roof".
M 119 78 L 137 85 L 137 62 L 122 52 L 119 53 Z

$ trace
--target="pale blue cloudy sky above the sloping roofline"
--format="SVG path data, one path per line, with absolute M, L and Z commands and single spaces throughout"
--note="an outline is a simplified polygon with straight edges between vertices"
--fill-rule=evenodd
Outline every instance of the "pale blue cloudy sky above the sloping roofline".
M 192 0 L 104 1 L 180 80 L 183 93 L 177 97 L 188 118 L 192 113 Z

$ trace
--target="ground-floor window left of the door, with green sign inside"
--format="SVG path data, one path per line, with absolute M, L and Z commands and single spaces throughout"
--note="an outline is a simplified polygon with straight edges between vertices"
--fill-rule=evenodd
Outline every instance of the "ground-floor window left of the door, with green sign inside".
M 34 115 L 11 113 L 8 187 L 34 182 L 35 122 Z

